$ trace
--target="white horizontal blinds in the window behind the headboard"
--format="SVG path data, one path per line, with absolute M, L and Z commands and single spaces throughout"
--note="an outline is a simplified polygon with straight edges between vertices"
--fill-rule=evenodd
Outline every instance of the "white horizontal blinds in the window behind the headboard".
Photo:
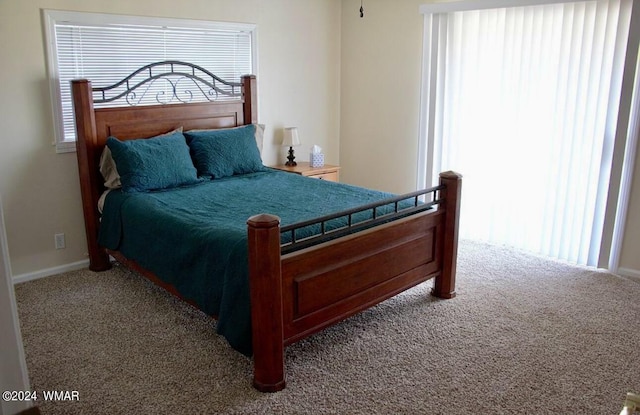
M 144 65 L 179 60 L 199 65 L 226 81 L 239 82 L 242 75 L 252 73 L 251 48 L 251 32 L 241 29 L 56 22 L 56 63 L 64 130 L 64 137 L 58 142 L 74 142 L 76 139 L 70 93 L 72 79 L 89 79 L 94 87 L 105 87 Z M 162 83 L 151 86 L 156 90 L 167 87 Z M 156 95 L 145 94 L 138 105 L 157 104 Z M 225 97 L 221 95 L 218 99 Z

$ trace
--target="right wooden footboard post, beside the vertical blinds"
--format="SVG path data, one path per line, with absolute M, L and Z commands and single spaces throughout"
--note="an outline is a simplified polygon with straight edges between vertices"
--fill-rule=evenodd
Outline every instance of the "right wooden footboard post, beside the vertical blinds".
M 440 173 L 440 184 L 446 186 L 440 191 L 444 199 L 444 230 L 442 232 L 442 271 L 436 277 L 433 295 L 439 298 L 456 296 L 456 262 L 458 257 L 458 225 L 460 221 L 460 196 L 462 175 L 447 171 Z

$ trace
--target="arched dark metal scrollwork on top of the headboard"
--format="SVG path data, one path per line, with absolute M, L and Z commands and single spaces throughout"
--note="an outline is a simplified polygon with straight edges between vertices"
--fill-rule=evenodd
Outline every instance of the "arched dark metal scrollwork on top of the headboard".
M 140 104 L 218 101 L 242 96 L 240 82 L 225 81 L 201 66 L 181 61 L 152 63 L 107 87 L 92 88 L 94 104 L 124 99 Z M 154 102 L 155 101 L 155 102 Z

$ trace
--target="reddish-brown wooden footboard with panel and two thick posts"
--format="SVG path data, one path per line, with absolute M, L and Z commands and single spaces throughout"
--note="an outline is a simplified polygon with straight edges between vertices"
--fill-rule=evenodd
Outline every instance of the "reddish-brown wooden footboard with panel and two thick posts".
M 455 296 L 461 176 L 442 173 L 437 209 L 281 254 L 280 220 L 249 219 L 254 386 L 285 387 L 284 347 L 435 277 Z

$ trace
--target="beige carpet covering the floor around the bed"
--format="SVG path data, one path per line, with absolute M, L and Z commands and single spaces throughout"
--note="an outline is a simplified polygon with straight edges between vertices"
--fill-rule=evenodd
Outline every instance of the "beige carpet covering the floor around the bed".
M 46 414 L 617 414 L 640 391 L 640 284 L 461 242 L 458 296 L 414 288 L 287 349 L 261 394 L 215 321 L 120 267 L 16 287 Z

